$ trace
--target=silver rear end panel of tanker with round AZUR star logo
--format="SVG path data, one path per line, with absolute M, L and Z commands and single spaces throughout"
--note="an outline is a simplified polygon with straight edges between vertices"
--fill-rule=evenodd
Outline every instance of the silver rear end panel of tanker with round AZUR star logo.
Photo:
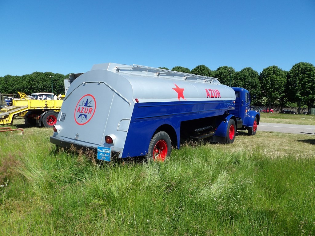
M 54 136 L 77 144 L 111 147 L 105 144 L 105 136 L 114 134 L 115 148 L 121 150 L 127 132 L 117 131 L 117 127 L 122 119 L 130 120 L 133 105 L 128 80 L 106 70 L 89 71 L 72 82 L 61 108 L 66 117 L 64 121 L 58 119 L 61 129 Z M 128 128 L 127 124 L 123 128 Z

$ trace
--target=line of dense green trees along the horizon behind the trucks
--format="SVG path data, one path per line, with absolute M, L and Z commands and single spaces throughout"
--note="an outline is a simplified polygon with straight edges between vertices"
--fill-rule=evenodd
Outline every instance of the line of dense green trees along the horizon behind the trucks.
M 169 70 L 167 67 L 159 68 Z M 301 107 L 310 109 L 315 103 L 315 67 L 307 62 L 297 63 L 289 71 L 272 65 L 260 73 L 251 67 L 235 71 L 231 66 L 220 66 L 216 70 L 210 70 L 205 65 L 198 65 L 192 70 L 175 66 L 171 70 L 215 77 L 221 84 L 246 88 L 252 96 L 252 104 L 255 105 L 298 107 L 300 113 Z M 6 75 L 0 77 L 0 92 L 64 94 L 64 79 L 68 78 L 68 75 L 52 72 L 33 72 L 23 76 Z

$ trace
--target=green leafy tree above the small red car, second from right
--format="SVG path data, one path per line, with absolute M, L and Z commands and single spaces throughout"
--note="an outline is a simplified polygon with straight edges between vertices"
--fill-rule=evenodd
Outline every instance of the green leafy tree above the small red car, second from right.
M 260 73 L 262 96 L 267 98 L 268 108 L 284 96 L 286 85 L 286 71 L 272 65 Z

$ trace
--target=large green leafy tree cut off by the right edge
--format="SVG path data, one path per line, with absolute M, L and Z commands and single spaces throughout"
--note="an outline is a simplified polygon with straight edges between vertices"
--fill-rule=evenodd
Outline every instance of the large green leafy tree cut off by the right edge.
M 308 109 L 315 102 L 315 67 L 311 63 L 300 62 L 292 66 L 288 73 L 289 97 L 296 102 L 301 114 L 301 105 Z

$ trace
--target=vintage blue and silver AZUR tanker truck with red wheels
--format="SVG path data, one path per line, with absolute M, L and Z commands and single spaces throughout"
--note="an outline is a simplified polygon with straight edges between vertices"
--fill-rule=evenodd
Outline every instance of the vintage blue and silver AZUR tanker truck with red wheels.
M 163 161 L 187 138 L 233 143 L 236 130 L 254 135 L 260 120 L 246 89 L 212 77 L 107 63 L 69 81 L 50 142 L 96 149 L 99 160 Z

